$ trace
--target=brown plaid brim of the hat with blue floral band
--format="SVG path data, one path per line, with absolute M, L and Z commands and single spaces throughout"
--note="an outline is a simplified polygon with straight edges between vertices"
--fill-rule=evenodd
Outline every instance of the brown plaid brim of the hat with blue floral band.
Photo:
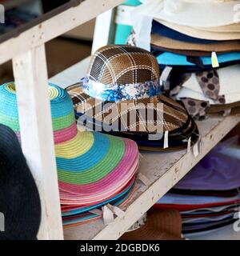
M 136 131 L 140 131 L 140 128 L 145 126 L 145 129 L 143 130 L 146 130 L 146 133 L 149 133 L 146 120 L 149 121 L 150 126 L 161 125 L 163 126 L 163 131 L 173 131 L 184 126 L 188 120 L 188 114 L 184 107 L 162 94 L 153 98 L 142 98 L 135 101 L 123 101 L 118 103 L 101 102 L 91 98 L 82 91 L 81 84 L 69 86 L 66 90 L 74 102 L 75 111 L 81 114 L 86 114 L 86 116 L 94 118 L 99 122 L 105 120 L 106 116 L 110 114 L 110 111 L 113 111 L 115 116 L 108 124 L 111 125 L 113 122 L 118 122 L 119 127 L 124 127 L 127 131 L 134 130 L 134 128 Z M 127 104 L 127 111 L 122 110 L 122 106 L 124 106 L 122 103 Z M 158 103 L 162 103 L 163 105 L 158 105 Z M 109 104 L 110 110 L 104 107 L 105 105 L 109 106 Z M 139 110 L 139 105 L 143 106 L 143 108 L 145 107 L 145 109 L 154 110 L 154 113 L 151 113 L 154 119 L 150 120 L 150 118 L 147 117 L 148 112 L 146 111 L 146 118 L 143 118 L 141 114 L 138 114 L 136 116 L 136 122 L 130 123 L 131 112 Z M 102 111 L 98 111 L 99 109 Z M 125 116 L 126 118 L 124 118 Z M 128 123 L 122 123 L 122 120 L 127 120 Z

